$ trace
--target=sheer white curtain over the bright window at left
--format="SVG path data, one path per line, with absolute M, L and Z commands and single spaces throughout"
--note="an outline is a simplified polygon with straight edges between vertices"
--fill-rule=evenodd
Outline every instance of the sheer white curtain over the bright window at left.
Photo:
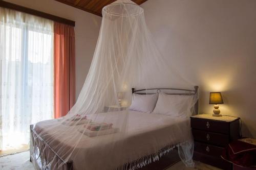
M 53 21 L 0 8 L 0 150 L 53 118 Z

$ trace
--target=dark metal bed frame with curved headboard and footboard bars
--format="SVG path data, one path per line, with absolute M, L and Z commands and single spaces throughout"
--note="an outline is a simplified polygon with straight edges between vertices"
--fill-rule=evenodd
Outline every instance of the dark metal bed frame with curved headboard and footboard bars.
M 195 98 L 198 98 L 198 86 L 194 86 L 194 90 L 189 90 L 189 89 L 180 89 L 180 88 L 149 88 L 149 89 L 139 89 L 135 90 L 135 88 L 132 88 L 132 93 L 136 94 L 152 94 L 147 93 L 147 91 L 156 91 L 157 93 L 161 92 L 161 90 L 176 90 L 176 91 L 182 91 L 182 92 L 177 92 L 177 93 L 166 93 L 170 95 L 194 95 Z M 196 102 L 194 106 L 194 114 L 198 114 L 198 101 Z M 47 148 L 47 149 L 46 149 Z M 36 152 L 32 152 L 32 151 Z M 51 154 L 53 155 L 50 159 L 46 156 Z M 36 154 L 37 153 L 37 154 Z M 34 154 L 34 155 L 32 155 Z M 36 155 L 35 155 L 36 154 Z M 35 158 L 35 159 L 34 159 Z M 52 159 L 56 159 L 55 162 L 57 162 L 56 166 L 54 169 L 58 170 L 73 170 L 73 161 L 65 161 L 61 156 L 56 153 L 51 146 L 34 130 L 34 125 L 30 125 L 30 161 L 34 163 L 36 166 L 36 169 L 40 170 L 51 170 L 51 163 Z M 163 159 L 165 162 L 161 162 L 161 159 L 158 161 L 160 162 L 159 164 L 163 164 L 166 162 L 170 162 L 168 159 Z M 60 162 L 60 163 L 58 163 Z M 148 169 L 156 169 L 156 167 L 151 167 L 150 165 L 146 165 L 142 167 L 142 169 L 145 169 L 148 166 Z M 157 166 L 157 165 L 154 165 Z M 146 168 L 147 169 L 147 168 Z

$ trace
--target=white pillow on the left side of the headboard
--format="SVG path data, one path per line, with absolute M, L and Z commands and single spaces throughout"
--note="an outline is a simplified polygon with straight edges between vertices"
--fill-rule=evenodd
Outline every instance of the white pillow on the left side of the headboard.
M 133 93 L 132 104 L 129 110 L 151 113 L 157 103 L 158 94 L 136 94 Z

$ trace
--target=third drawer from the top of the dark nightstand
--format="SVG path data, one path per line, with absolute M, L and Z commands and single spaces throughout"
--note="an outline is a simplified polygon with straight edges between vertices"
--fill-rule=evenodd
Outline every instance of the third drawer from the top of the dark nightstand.
M 220 158 L 222 152 L 224 151 L 224 148 L 216 147 L 214 145 L 205 144 L 201 142 L 195 142 L 195 151 L 200 152 L 202 154 L 207 154 L 210 156 L 215 156 Z

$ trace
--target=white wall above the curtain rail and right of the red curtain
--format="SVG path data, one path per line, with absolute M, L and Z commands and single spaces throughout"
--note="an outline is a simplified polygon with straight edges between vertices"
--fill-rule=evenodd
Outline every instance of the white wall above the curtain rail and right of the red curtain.
M 76 98 L 89 71 L 97 43 L 101 17 L 54 0 L 5 0 L 20 6 L 74 20 L 76 43 Z

